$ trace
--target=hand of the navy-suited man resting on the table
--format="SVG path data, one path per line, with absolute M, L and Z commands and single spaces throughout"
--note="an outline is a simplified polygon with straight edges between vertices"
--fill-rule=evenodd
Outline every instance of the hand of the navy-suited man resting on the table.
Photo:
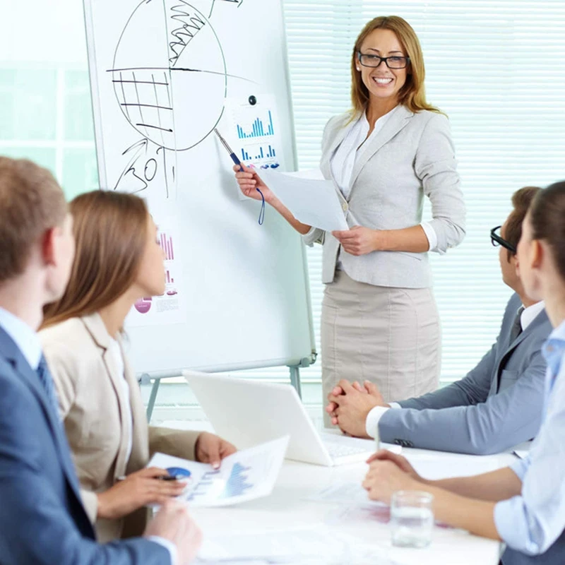
M 202 532 L 189 515 L 186 504 L 167 501 L 145 528 L 144 537 L 156 535 L 177 546 L 177 563 L 189 564 L 202 545 Z

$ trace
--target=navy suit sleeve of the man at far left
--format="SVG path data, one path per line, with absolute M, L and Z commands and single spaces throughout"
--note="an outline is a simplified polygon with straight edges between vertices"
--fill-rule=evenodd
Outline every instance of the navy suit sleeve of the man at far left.
M 55 487 L 66 478 L 37 400 L 13 379 L 0 376 L 0 385 L 2 565 L 169 565 L 169 552 L 155 542 L 100 545 L 81 535 Z

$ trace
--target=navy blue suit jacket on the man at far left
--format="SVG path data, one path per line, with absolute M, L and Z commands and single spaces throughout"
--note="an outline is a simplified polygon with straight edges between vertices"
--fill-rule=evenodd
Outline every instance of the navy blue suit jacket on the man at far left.
M 22 353 L 0 328 L 2 565 L 169 565 L 145 539 L 100 545 L 83 509 L 59 417 Z

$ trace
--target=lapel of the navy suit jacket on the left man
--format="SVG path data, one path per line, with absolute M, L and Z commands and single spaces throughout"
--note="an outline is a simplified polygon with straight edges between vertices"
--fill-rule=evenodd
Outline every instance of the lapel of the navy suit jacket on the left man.
M 71 449 L 69 448 L 69 442 L 64 433 L 63 424 L 61 420 L 59 420 L 59 415 L 55 412 L 49 398 L 47 398 L 47 393 L 40 383 L 36 372 L 30 367 L 25 357 L 23 357 L 16 343 L 13 342 L 12 338 L 2 328 L 0 328 L 0 355 L 12 365 L 16 374 L 21 377 L 22 381 L 30 388 L 39 401 L 47 424 L 49 424 L 49 428 L 51 429 L 52 437 L 57 447 L 57 453 L 59 454 L 61 468 L 66 476 L 66 480 L 69 482 L 76 498 L 78 501 L 81 501 L 82 504 L 75 465 L 71 458 Z

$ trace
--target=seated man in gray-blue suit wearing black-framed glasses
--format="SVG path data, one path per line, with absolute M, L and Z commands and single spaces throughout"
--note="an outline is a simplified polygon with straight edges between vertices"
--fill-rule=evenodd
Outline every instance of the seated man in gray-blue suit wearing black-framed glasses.
M 343 432 L 375 436 L 406 447 L 486 455 L 532 439 L 540 429 L 545 361 L 541 347 L 551 332 L 543 302 L 525 296 L 516 247 L 528 206 L 537 192 L 525 187 L 512 197 L 513 211 L 501 231 L 504 283 L 515 291 L 491 350 L 464 379 L 433 393 L 386 404 L 374 384 L 340 381 L 326 411 Z

